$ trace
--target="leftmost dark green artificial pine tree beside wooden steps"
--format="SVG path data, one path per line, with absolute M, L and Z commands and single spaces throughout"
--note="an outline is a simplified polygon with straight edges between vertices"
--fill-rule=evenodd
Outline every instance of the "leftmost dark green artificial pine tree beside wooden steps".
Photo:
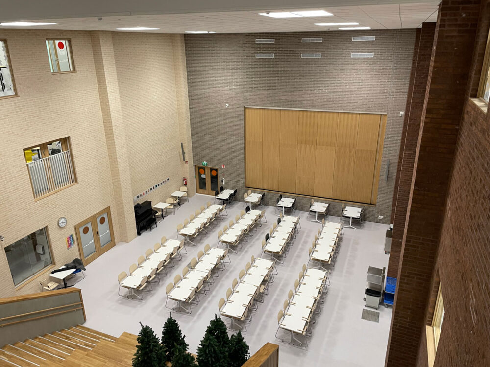
M 133 367 L 162 367 L 165 365 L 165 347 L 149 326 L 143 326 L 138 334 L 138 345 L 134 353 Z

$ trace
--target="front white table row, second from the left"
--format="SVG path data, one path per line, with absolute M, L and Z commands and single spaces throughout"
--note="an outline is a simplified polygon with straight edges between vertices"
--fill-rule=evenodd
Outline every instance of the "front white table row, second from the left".
M 182 278 L 182 281 L 178 284 L 169 283 L 169 285 L 173 284 L 174 288 L 171 292 L 167 293 L 167 302 L 169 299 L 176 301 L 179 309 L 183 304 L 188 303 L 188 312 L 191 313 L 190 302 L 193 300 L 196 290 L 206 279 L 209 279 L 211 272 L 224 259 L 224 256 L 225 250 L 223 249 L 209 249 L 208 252 L 197 261 L 196 266 L 190 269 L 189 273 Z

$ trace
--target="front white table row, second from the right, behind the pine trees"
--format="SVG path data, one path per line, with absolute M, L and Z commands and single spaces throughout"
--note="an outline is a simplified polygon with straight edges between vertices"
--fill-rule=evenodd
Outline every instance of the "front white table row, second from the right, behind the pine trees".
M 250 315 L 249 310 L 258 295 L 267 288 L 269 280 L 273 278 L 274 269 L 275 261 L 257 258 L 245 276 L 240 279 L 237 288 L 233 290 L 233 294 L 220 310 L 222 316 L 231 319 L 232 328 L 233 321 L 244 321 L 246 331 L 245 318 Z

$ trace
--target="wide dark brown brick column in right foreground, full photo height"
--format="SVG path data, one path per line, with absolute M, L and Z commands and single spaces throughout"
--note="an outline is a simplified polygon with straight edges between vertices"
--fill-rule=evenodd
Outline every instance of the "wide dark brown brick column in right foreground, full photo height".
M 429 82 L 420 114 L 387 367 L 417 364 L 479 10 L 478 0 L 443 0 L 440 5 Z

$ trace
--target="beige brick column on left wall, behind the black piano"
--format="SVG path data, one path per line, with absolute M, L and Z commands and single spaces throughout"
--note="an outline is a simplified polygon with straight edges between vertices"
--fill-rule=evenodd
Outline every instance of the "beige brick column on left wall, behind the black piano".
M 114 198 L 116 199 L 116 242 L 129 242 L 136 237 L 131 176 L 129 172 L 123 112 L 114 60 L 111 32 L 91 32 L 92 50 L 97 74 L 100 107 L 104 121 Z

